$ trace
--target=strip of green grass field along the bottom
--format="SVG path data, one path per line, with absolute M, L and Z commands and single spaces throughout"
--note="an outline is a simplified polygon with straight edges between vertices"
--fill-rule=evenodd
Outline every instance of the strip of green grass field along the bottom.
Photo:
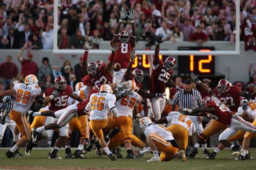
M 58 156 L 62 159 L 47 159 L 49 150 L 32 150 L 30 157 L 16 157 L 15 159 L 7 159 L 6 150 L 0 150 L 0 170 L 2 169 L 141 169 L 141 170 L 252 170 L 256 167 L 256 160 L 234 161 L 229 150 L 222 150 L 218 153 L 215 160 L 205 160 L 202 150 L 194 159 L 188 159 L 181 162 L 180 159 L 164 162 L 146 162 L 152 157 L 152 154 L 146 154 L 140 159 L 117 159 L 111 161 L 107 156 L 98 156 L 93 151 L 85 154 L 87 159 L 64 159 L 64 150 L 60 150 Z M 212 150 L 210 150 L 212 151 Z M 74 152 L 74 150 L 72 150 Z M 21 149 L 20 153 L 24 153 Z M 250 151 L 251 156 L 256 159 L 256 150 Z M 122 149 L 123 157 L 126 152 Z M 47 167 L 47 168 L 44 168 Z M 56 167 L 56 168 L 55 168 Z M 64 168 L 72 167 L 72 168 Z

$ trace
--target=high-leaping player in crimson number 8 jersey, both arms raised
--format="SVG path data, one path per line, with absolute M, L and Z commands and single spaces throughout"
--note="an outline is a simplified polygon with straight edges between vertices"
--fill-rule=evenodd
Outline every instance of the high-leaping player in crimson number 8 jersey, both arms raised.
M 131 36 L 127 31 L 120 31 L 120 27 L 124 20 L 128 17 L 131 23 L 132 33 Z M 134 24 L 134 10 L 130 9 L 129 11 L 125 11 L 122 9 L 120 11 L 120 20 L 116 25 L 115 33 L 113 36 L 113 40 L 111 41 L 111 46 L 118 43 L 120 48 L 116 51 L 114 57 L 110 57 L 109 61 L 113 63 L 119 63 L 121 65 L 121 69 L 119 71 L 113 71 L 113 82 L 121 82 L 123 75 L 126 71 L 128 63 L 130 61 L 130 52 L 135 47 L 135 24 Z

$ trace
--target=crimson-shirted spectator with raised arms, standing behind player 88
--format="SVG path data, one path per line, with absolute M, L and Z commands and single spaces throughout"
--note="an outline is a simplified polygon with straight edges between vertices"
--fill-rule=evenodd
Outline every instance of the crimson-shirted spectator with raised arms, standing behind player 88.
M 23 59 L 21 57 L 22 52 L 26 48 L 26 46 L 27 45 L 21 48 L 19 54 L 17 55 L 17 59 L 21 63 L 21 74 L 23 74 L 24 77 L 26 77 L 29 74 L 34 74 L 35 76 L 37 76 L 38 65 L 36 64 L 36 62 L 33 61 L 33 55 L 30 53 L 30 49 L 28 50 L 27 59 Z

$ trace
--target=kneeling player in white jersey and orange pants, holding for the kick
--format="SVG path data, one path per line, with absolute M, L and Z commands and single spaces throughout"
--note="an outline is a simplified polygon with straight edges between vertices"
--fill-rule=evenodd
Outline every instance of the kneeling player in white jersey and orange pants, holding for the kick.
M 136 153 L 145 154 L 152 151 L 154 157 L 149 159 L 148 162 L 169 161 L 175 157 L 180 157 L 182 161 L 186 161 L 184 151 L 178 151 L 180 146 L 166 127 L 160 124 L 153 124 L 150 118 L 143 117 L 140 119 L 140 129 L 145 134 L 149 147 L 145 150 L 137 150 Z M 160 156 L 157 150 L 161 151 Z

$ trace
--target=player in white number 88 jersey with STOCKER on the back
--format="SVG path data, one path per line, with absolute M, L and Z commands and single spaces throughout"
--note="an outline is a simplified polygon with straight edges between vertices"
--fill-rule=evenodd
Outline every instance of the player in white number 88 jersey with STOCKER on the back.
M 31 139 L 30 127 L 27 123 L 26 113 L 29 111 L 29 108 L 35 99 L 41 105 L 44 105 L 44 102 L 49 102 L 49 100 L 54 98 L 53 94 L 44 98 L 40 95 L 41 88 L 38 86 L 38 79 L 32 74 L 25 77 L 24 84 L 17 82 L 15 83 L 14 88 L 7 91 L 0 91 L 1 97 L 13 94 L 16 94 L 16 101 L 10 112 L 10 118 L 16 122 L 22 138 L 10 150 L 8 150 L 8 152 L 6 152 L 6 156 L 8 158 L 13 158 L 15 156 L 14 152 Z

